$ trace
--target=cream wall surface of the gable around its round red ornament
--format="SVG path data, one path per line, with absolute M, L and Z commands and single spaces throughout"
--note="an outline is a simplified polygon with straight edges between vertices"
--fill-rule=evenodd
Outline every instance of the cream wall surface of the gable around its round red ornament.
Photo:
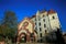
M 28 23 L 29 23 L 28 26 L 24 26 L 24 22 L 28 22 Z M 30 23 L 30 21 L 26 20 L 26 19 L 24 19 L 24 20 L 21 22 L 21 24 L 19 25 L 19 30 L 24 30 L 24 28 L 28 29 L 31 33 L 33 32 L 33 25 L 32 25 L 32 23 Z M 21 32 L 24 32 L 24 31 L 21 31 Z

